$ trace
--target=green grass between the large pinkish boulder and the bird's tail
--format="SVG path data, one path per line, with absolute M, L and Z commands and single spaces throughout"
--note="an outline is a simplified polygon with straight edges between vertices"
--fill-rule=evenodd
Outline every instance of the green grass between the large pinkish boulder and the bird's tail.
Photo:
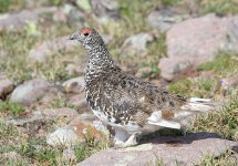
M 168 90 L 173 93 L 180 93 L 188 96 L 213 97 L 215 85 L 219 79 L 238 74 L 237 65 L 237 54 L 220 51 L 214 61 L 198 66 L 198 72 L 215 72 L 211 79 L 180 79 L 169 84 Z

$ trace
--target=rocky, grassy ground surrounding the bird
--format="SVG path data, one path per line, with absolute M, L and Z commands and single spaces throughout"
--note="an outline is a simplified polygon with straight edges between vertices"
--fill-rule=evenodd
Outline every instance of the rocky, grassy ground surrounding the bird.
M 223 108 L 111 148 L 84 97 L 87 56 L 68 40 L 97 29 L 130 74 Z M 0 0 L 1 165 L 238 163 L 236 0 Z

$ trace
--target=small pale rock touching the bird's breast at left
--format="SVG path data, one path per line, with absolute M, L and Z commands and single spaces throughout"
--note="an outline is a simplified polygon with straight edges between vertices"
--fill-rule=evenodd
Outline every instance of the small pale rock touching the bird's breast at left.
M 66 93 L 82 93 L 84 92 L 84 77 L 73 77 L 63 83 L 64 91 Z

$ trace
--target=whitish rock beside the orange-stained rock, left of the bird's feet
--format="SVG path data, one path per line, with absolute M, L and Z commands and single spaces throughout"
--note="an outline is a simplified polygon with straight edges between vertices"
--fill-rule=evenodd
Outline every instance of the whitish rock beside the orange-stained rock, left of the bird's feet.
M 71 146 L 80 139 L 75 131 L 70 127 L 61 127 L 46 136 L 46 143 L 51 146 Z

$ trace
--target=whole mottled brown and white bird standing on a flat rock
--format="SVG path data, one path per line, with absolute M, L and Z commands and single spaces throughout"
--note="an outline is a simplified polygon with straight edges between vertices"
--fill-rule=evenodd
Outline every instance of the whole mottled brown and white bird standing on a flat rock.
M 187 116 L 211 110 L 209 100 L 185 98 L 126 74 L 112 60 L 94 29 L 70 37 L 89 53 L 85 73 L 86 101 L 94 114 L 115 129 L 115 145 L 136 144 L 136 136 L 162 127 L 180 128 Z

